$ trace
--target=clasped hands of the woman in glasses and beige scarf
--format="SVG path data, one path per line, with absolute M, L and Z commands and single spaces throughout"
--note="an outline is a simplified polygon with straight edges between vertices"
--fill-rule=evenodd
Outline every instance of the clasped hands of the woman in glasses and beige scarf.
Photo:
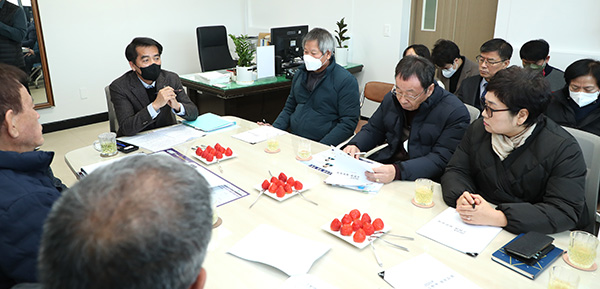
M 480 195 L 466 191 L 456 200 L 456 212 L 467 224 L 496 227 L 505 227 L 508 224 L 502 211 L 494 209 Z

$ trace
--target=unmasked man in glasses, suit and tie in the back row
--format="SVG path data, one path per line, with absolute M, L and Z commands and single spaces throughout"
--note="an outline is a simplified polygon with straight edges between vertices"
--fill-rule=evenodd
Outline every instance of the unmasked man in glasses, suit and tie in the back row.
M 500 70 L 510 64 L 512 46 L 504 39 L 494 38 L 485 42 L 479 48 L 475 58 L 479 63 L 479 75 L 465 79 L 456 91 L 456 96 L 462 102 L 482 109 L 488 81 Z

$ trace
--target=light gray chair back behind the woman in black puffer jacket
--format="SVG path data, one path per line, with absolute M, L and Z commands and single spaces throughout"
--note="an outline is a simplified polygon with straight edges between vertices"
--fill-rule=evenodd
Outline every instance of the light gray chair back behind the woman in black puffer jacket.
M 583 158 L 587 167 L 585 175 L 585 206 L 588 209 L 588 214 L 591 224 L 585 228 L 585 231 L 596 235 L 596 223 L 600 222 L 596 214 L 596 206 L 598 204 L 598 189 L 600 188 L 600 136 L 578 130 L 571 127 L 563 128 L 577 139 Z

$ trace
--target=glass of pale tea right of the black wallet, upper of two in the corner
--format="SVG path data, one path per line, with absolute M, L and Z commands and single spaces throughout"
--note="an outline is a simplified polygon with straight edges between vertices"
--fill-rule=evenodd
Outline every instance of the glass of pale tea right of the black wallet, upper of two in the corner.
M 577 267 L 588 269 L 596 261 L 598 237 L 584 231 L 572 231 L 569 240 L 569 261 Z

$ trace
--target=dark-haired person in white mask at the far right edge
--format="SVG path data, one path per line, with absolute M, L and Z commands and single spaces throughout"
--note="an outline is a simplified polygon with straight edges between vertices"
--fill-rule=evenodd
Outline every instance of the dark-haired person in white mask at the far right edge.
M 552 94 L 546 115 L 560 125 L 600 135 L 600 61 L 573 62 L 565 70 L 565 82 Z

